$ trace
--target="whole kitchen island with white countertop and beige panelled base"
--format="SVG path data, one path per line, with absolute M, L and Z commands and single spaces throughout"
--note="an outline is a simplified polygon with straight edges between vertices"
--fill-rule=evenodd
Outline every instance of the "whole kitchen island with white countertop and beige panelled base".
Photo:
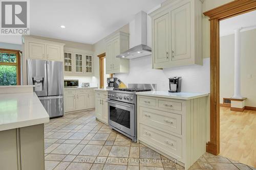
M 33 86 L 1 86 L 0 108 L 0 169 L 44 170 L 49 115 Z

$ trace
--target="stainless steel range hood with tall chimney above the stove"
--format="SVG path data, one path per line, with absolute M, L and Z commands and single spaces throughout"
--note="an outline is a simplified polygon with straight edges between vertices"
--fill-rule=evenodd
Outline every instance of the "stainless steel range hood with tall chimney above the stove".
M 147 46 L 147 14 L 140 11 L 135 15 L 134 27 L 130 26 L 130 49 L 116 56 L 117 58 L 134 59 L 151 55 L 151 47 Z M 131 23 L 130 23 L 131 25 Z M 134 34 L 134 35 L 131 35 Z

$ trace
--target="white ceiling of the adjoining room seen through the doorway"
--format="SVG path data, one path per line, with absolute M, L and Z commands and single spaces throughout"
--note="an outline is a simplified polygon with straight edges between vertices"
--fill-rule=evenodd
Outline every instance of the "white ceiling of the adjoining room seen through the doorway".
M 220 36 L 234 34 L 234 30 L 242 28 L 241 31 L 256 29 L 256 11 L 234 16 L 220 21 Z

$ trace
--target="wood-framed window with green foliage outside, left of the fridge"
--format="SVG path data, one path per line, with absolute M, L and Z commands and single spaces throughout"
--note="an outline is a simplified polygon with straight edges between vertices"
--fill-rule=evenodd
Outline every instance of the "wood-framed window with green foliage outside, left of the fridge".
M 20 85 L 19 51 L 0 48 L 0 86 Z

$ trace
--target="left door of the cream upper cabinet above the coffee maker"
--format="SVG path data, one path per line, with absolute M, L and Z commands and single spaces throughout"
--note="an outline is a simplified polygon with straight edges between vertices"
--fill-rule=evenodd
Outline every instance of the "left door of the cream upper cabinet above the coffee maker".
M 154 20 L 155 63 L 169 61 L 169 13 Z

